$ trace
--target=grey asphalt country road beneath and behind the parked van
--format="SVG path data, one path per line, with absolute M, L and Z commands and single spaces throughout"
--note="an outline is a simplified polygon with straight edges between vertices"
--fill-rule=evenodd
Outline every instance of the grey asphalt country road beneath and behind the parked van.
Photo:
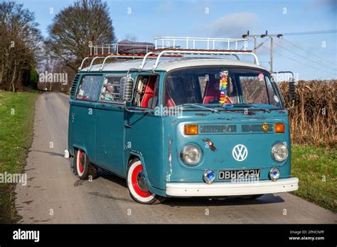
M 332 223 L 337 216 L 289 193 L 257 200 L 167 199 L 142 205 L 126 182 L 107 172 L 80 181 L 63 158 L 68 136 L 69 97 L 46 92 L 36 101 L 34 138 L 26 186 L 16 186 L 20 223 Z

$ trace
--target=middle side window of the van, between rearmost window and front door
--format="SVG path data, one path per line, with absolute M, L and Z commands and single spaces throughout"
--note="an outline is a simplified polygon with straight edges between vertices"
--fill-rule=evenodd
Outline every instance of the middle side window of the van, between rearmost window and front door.
M 105 75 L 100 95 L 100 101 L 108 103 L 122 103 L 119 99 L 120 80 L 126 75 Z

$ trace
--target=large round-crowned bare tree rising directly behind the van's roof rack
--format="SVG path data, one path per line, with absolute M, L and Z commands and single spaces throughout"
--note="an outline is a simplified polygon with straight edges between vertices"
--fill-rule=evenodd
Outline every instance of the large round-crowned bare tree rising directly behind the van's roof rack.
M 101 0 L 75 1 L 55 16 L 48 33 L 47 51 L 74 71 L 88 54 L 90 44 L 107 44 L 115 40 L 109 8 Z

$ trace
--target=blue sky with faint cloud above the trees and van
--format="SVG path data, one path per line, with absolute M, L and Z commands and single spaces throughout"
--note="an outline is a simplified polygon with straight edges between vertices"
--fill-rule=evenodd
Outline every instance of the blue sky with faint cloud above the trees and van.
M 70 0 L 17 2 L 35 13 L 45 37 L 55 14 L 73 4 Z M 155 36 L 169 35 L 241 38 L 247 30 L 251 34 L 266 30 L 269 34 L 336 30 L 336 2 L 107 0 L 117 38 L 122 40 L 124 35 L 132 34 L 147 42 L 153 42 Z M 259 38 L 257 43 L 262 41 Z M 291 70 L 299 79 L 337 78 L 337 33 L 284 35 L 283 40 L 274 39 L 274 51 L 274 70 Z M 269 41 L 257 50 L 257 55 L 261 65 L 269 68 Z

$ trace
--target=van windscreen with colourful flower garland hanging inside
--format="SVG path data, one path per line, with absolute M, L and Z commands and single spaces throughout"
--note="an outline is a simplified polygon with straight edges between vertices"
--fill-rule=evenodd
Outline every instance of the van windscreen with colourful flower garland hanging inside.
M 246 68 L 195 67 L 166 76 L 166 106 L 181 104 L 264 104 L 280 107 L 267 72 Z

